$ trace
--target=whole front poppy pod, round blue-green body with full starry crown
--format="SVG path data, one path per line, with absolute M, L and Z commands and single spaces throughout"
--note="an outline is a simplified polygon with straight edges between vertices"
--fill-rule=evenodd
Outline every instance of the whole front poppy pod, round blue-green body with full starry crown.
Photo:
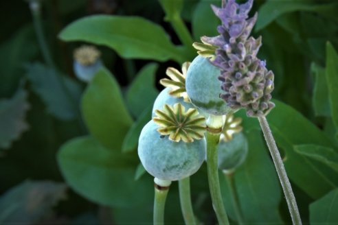
M 144 126 L 139 159 L 149 174 L 161 180 L 181 180 L 201 167 L 206 152 L 205 119 L 196 109 L 166 105 Z

